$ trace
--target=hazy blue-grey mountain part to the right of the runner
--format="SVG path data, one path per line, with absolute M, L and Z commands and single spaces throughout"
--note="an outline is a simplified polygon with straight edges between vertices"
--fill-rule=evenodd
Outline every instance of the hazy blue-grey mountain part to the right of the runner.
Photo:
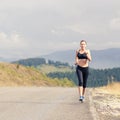
M 120 67 L 120 48 L 92 51 L 93 68 L 113 68 Z

